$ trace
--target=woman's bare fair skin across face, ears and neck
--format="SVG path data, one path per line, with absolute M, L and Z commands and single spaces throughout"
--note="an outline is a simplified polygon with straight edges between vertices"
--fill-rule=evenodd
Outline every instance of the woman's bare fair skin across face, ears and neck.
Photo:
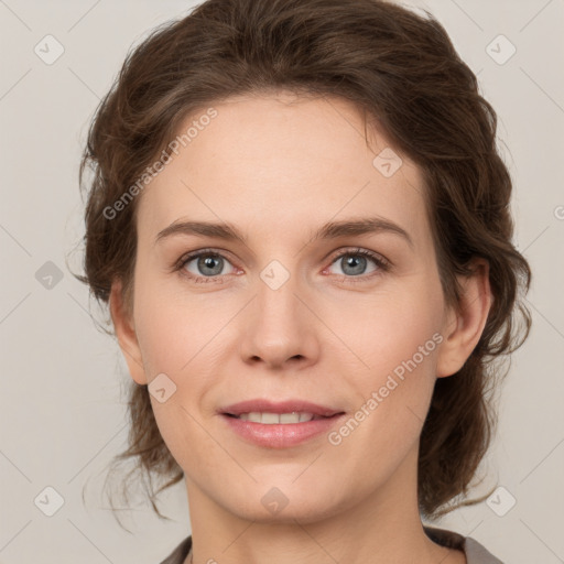
M 416 464 L 435 379 L 464 365 L 484 329 L 487 264 L 460 279 L 460 311 L 448 307 L 420 172 L 402 155 L 384 177 L 372 161 L 390 144 L 373 130 L 367 145 L 349 102 L 278 93 L 214 107 L 218 116 L 137 202 L 132 306 L 119 281 L 110 299 L 133 380 L 164 372 L 176 386 L 151 401 L 185 473 L 193 562 L 466 562 L 425 535 Z M 329 220 L 368 216 L 399 225 L 413 246 L 386 231 L 311 240 Z M 155 243 L 181 219 L 230 223 L 246 242 L 180 234 Z M 225 258 L 223 280 L 189 279 L 214 276 L 217 263 L 198 269 L 197 259 L 174 270 L 208 248 Z M 367 259 L 351 274 L 337 256 L 357 248 L 391 267 Z M 290 274 L 275 291 L 260 278 L 272 260 Z M 301 398 L 354 415 L 434 334 L 442 343 L 339 445 L 322 434 L 285 449 L 256 446 L 217 414 L 248 399 Z M 275 514 L 261 502 L 273 487 L 288 500 Z

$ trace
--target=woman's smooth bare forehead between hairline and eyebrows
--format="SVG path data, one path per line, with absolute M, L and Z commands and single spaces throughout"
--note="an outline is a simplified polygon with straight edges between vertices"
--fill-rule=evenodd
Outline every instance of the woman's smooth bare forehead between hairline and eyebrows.
M 420 171 L 373 128 L 367 144 L 350 102 L 279 93 L 229 98 L 200 120 L 207 110 L 184 121 L 178 154 L 143 191 L 140 236 L 181 217 L 253 225 L 265 237 L 368 215 L 415 238 L 429 230 Z

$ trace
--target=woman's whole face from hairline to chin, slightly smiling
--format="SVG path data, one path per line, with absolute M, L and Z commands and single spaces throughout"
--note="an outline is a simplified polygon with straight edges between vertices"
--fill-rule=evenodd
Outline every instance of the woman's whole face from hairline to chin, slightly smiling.
M 421 175 L 338 98 L 214 108 L 140 196 L 131 375 L 188 498 L 302 522 L 391 503 L 449 372 Z

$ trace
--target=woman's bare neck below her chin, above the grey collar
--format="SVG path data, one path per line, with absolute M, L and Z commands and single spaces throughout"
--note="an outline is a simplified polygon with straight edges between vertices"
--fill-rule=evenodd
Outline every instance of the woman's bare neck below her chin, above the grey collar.
M 403 475 L 409 467 L 398 468 L 390 484 L 368 497 L 332 508 L 322 518 L 282 511 L 270 522 L 234 514 L 186 478 L 193 556 L 192 557 L 194 564 L 465 563 L 460 551 L 438 546 L 426 536 L 416 502 L 416 475 Z

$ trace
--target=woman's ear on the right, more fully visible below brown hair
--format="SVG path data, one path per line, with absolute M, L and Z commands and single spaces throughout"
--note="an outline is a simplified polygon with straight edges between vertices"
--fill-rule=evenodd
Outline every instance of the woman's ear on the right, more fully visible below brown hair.
M 437 357 L 436 377 L 456 373 L 476 348 L 492 303 L 489 284 L 489 264 L 484 259 L 474 262 L 474 272 L 459 276 L 462 288 L 459 307 L 449 307 L 445 316 Z

